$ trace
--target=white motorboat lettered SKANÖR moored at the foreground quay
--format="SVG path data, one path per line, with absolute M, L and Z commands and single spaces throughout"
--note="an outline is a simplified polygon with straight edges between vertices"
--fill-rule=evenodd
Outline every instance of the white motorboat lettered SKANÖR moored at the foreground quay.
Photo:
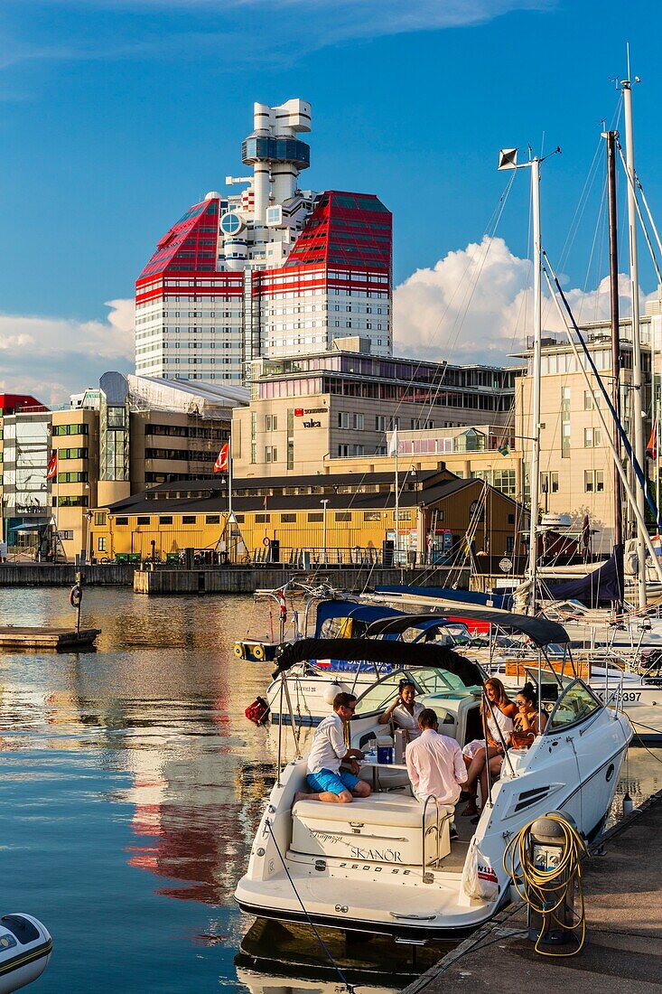
M 297 642 L 280 656 L 281 671 L 306 657 L 394 665 L 357 702 L 348 742 L 359 748 L 378 734 L 378 718 L 396 696 L 401 673 L 446 670 L 467 688 L 484 677 L 451 650 L 370 639 Z M 477 738 L 480 694 L 446 703 L 452 722 L 442 726 L 444 733 L 460 745 Z M 459 838 L 452 841 L 453 809 L 433 798 L 420 804 L 405 766 L 365 763 L 361 775 L 374 791 L 351 804 L 294 804 L 297 791 L 306 789 L 306 761 L 295 759 L 278 771 L 236 898 L 243 911 L 260 917 L 416 942 L 467 934 L 509 900 L 503 854 L 524 825 L 563 809 L 585 838 L 600 831 L 631 737 L 628 719 L 574 680 L 532 747 L 508 749 L 478 824 L 455 816 Z

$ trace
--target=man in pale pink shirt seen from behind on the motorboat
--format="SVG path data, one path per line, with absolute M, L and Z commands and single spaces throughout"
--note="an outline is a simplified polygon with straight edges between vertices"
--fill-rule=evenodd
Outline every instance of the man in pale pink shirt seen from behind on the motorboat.
M 435 797 L 440 804 L 456 804 L 466 780 L 462 750 L 454 739 L 437 732 L 436 713 L 423 708 L 418 715 L 420 737 L 407 746 L 405 761 L 417 800 Z

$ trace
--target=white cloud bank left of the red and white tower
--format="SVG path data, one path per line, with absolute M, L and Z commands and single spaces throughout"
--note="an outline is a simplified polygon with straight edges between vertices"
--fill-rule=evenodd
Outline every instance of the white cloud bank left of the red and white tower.
M 105 306 L 106 321 L 0 314 L 0 390 L 57 406 L 108 370 L 131 372 L 133 300 Z

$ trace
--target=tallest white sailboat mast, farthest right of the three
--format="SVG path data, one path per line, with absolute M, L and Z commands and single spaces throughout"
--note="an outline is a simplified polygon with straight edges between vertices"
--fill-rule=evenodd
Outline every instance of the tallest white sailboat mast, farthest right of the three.
M 629 57 L 628 57 L 629 76 Z M 639 265 L 637 258 L 637 204 L 634 185 L 634 129 L 632 124 L 632 87 L 629 80 L 621 83 L 625 117 L 625 168 L 627 170 L 627 227 L 630 247 L 630 298 L 632 302 L 632 420 L 634 421 L 633 448 L 640 466 L 646 466 L 643 430 L 643 378 L 641 370 L 641 338 L 639 333 Z M 641 487 L 636 488 L 639 521 L 644 520 L 645 496 Z M 637 591 L 639 607 L 646 606 L 646 546 L 641 524 L 637 526 Z

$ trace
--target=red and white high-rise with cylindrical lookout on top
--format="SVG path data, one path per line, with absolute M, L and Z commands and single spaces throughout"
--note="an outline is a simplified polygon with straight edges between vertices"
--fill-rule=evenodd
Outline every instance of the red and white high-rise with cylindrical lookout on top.
M 243 383 L 250 362 L 361 336 L 392 354 L 392 217 L 370 194 L 298 189 L 310 105 L 254 104 L 252 175 L 164 235 L 136 281 L 136 373 Z

